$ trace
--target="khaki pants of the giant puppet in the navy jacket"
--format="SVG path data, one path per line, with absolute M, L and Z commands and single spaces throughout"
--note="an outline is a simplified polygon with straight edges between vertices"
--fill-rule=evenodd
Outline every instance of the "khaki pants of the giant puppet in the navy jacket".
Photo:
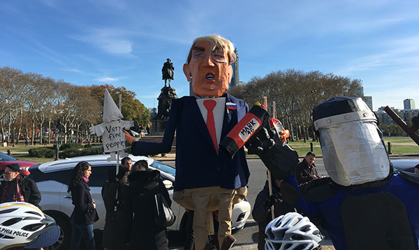
M 231 234 L 231 210 L 233 204 L 239 203 L 247 195 L 247 188 L 222 189 L 219 186 L 210 186 L 198 189 L 184 189 L 173 193 L 175 200 L 182 207 L 194 210 L 193 232 L 195 234 L 195 249 L 201 250 L 208 243 L 211 229 L 212 212 L 218 210 L 219 217 L 219 244 L 223 243 L 226 235 Z M 210 229 L 209 229 L 210 226 Z

